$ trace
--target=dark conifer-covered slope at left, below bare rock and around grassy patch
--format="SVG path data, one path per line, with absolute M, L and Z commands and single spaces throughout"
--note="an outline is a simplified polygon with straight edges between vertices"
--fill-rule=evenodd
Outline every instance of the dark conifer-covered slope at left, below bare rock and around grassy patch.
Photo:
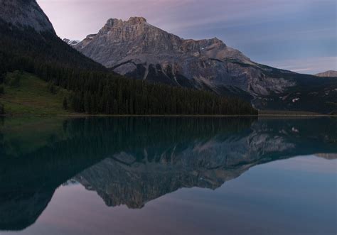
M 6 82 L 7 72 L 16 70 L 68 89 L 71 94 L 65 99 L 70 111 L 87 114 L 257 114 L 241 99 L 127 79 L 81 55 L 53 33 L 37 33 L 33 28 L 23 30 L 1 21 L 0 82 Z

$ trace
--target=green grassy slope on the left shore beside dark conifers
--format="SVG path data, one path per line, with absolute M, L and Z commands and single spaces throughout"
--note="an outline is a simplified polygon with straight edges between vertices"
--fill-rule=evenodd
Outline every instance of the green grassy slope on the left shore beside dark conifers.
M 28 73 L 9 73 L 7 77 L 18 77 L 18 84 L 4 83 L 4 94 L 0 103 L 4 104 L 6 114 L 52 115 L 68 114 L 63 109 L 63 99 L 69 99 L 70 92 L 50 84 Z

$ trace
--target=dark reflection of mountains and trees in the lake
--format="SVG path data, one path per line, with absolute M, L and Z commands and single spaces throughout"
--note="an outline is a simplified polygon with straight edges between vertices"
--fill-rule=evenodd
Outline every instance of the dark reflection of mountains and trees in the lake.
M 337 121 L 250 118 L 1 119 L 0 230 L 22 230 L 75 180 L 109 207 L 184 187 L 215 190 L 252 166 L 335 159 Z

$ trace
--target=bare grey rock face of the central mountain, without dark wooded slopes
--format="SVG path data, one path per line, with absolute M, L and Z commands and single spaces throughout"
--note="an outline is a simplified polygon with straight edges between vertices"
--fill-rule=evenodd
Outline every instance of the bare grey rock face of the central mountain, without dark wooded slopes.
M 254 96 L 283 92 L 294 82 L 264 79 L 263 68 L 218 38 L 184 40 L 151 26 L 145 18 L 109 19 L 97 34 L 74 46 L 84 55 L 129 77 L 218 94 Z

